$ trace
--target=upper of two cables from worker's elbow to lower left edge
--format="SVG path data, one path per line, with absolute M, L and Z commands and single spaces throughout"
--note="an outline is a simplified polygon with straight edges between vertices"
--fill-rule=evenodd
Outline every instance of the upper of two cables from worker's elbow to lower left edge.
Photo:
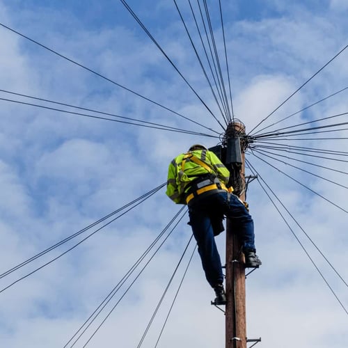
M 69 237 L 66 237 L 65 239 L 61 240 L 60 242 L 57 242 L 53 246 L 50 246 L 49 248 L 45 249 L 44 251 L 41 251 L 40 253 L 32 256 L 31 258 L 29 258 L 29 259 L 27 259 L 27 260 L 17 264 L 15 267 L 12 267 L 11 269 L 8 269 L 8 271 L 5 271 L 2 274 L 0 274 L 0 279 L 5 277 L 5 276 L 8 276 L 8 274 L 13 273 L 14 271 L 17 271 L 17 269 L 20 269 L 21 267 L 24 267 L 26 264 L 29 264 L 29 262 L 32 262 L 33 260 L 36 260 L 37 258 L 40 258 L 40 256 L 45 255 L 46 253 L 49 253 L 49 251 L 52 251 L 55 248 L 58 248 L 58 246 L 61 246 L 64 243 L 69 242 L 74 237 L 77 237 L 77 236 L 81 235 L 81 233 L 84 233 L 84 232 L 86 232 L 86 230 L 89 230 L 90 228 L 93 228 L 98 223 L 101 223 L 102 221 L 104 221 L 106 219 L 109 219 L 109 217 L 111 217 L 111 216 L 113 216 L 115 214 L 118 214 L 118 212 L 121 212 L 123 209 L 129 207 L 130 205 L 133 205 L 134 203 L 136 203 L 137 201 L 141 200 L 142 198 L 145 198 L 146 196 L 150 195 L 150 193 L 157 192 L 159 189 L 161 189 L 165 185 L 166 185 L 166 182 L 164 182 L 164 184 L 159 185 L 158 187 L 155 187 L 155 189 L 152 189 L 151 191 L 149 191 L 147 193 L 144 193 L 142 196 L 140 196 L 138 198 L 135 198 L 131 202 L 127 203 L 126 205 L 123 205 L 123 207 L 120 207 L 120 208 L 116 209 L 115 211 L 111 212 L 110 214 L 107 214 L 106 216 L 102 217 L 101 219 L 95 221 L 94 223 L 91 223 L 90 225 L 86 226 L 85 228 L 82 228 L 81 230 L 75 232 L 73 235 L 70 235 Z

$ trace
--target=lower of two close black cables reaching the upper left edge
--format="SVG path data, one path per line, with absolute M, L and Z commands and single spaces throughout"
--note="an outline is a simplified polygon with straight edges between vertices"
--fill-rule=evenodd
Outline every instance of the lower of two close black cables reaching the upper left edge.
M 107 121 L 111 121 L 111 122 L 125 123 L 126 125 L 136 125 L 136 126 L 152 128 L 152 129 L 161 129 L 161 130 L 166 130 L 166 131 L 169 131 L 169 132 L 177 132 L 177 133 L 192 134 L 192 135 L 199 135 L 199 136 L 209 136 L 211 138 L 219 138 L 219 136 L 213 136 L 213 135 L 204 134 L 204 133 L 198 133 L 198 132 L 191 132 L 191 131 L 187 131 L 187 130 L 184 130 L 184 129 L 179 130 L 179 128 L 172 129 L 171 127 L 168 127 L 168 126 L 155 127 L 155 126 L 150 126 L 150 125 L 143 125 L 141 123 L 120 121 L 120 120 L 115 120 L 113 118 L 105 118 L 105 117 L 101 117 L 101 116 L 88 115 L 87 113 L 79 113 L 79 112 L 74 112 L 74 111 L 57 109 L 57 108 L 53 108 L 53 107 L 50 107 L 50 106 L 44 106 L 44 105 L 39 105 L 39 104 L 32 104 L 32 103 L 28 103 L 28 102 L 20 102 L 19 100 L 11 100 L 11 99 L 1 98 L 1 97 L 0 97 L 0 100 L 3 100 L 5 102 L 13 102 L 15 104 L 22 104 L 22 105 L 27 105 L 27 106 L 35 106 L 35 107 L 38 107 L 38 108 L 41 108 L 41 109 L 46 109 L 46 110 L 51 110 L 51 111 L 58 111 L 58 112 L 62 112 L 62 113 L 68 113 L 70 115 L 95 118 L 97 120 L 107 120 Z

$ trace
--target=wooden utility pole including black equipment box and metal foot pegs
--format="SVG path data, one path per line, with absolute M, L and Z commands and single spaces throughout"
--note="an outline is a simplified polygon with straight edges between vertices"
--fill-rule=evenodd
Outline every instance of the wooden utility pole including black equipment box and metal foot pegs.
M 230 171 L 234 193 L 245 203 L 246 150 L 245 127 L 242 122 L 228 125 L 224 138 L 226 145 L 225 164 Z M 247 205 L 246 205 L 247 207 Z M 246 348 L 246 290 L 245 269 L 259 267 L 261 262 L 247 265 L 244 258 L 242 236 L 236 233 L 231 219 L 226 223 L 226 348 Z M 260 261 L 260 260 L 259 260 Z M 260 340 L 260 339 L 259 339 Z M 249 341 L 249 340 L 248 340 Z M 258 340 L 250 340 L 258 341 Z

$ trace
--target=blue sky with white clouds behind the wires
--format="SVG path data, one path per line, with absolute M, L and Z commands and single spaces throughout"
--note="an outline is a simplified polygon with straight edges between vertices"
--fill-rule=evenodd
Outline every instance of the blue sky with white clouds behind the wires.
M 65 346 L 166 229 L 180 206 L 162 188 L 126 214 L 121 216 L 133 205 L 24 267 L 9 270 L 159 187 L 166 182 L 173 157 L 192 143 L 216 145 L 224 132 L 219 107 L 175 2 L 128 3 L 182 76 L 121 1 L 0 0 L 1 347 Z M 196 1 L 191 4 L 197 11 Z M 207 5 L 227 81 L 219 1 L 210 0 Z M 222 0 L 221 5 L 233 109 L 247 132 L 348 44 L 345 0 Z M 177 1 L 177 6 L 200 47 L 189 1 Z M 201 47 L 198 52 L 204 61 Z M 260 134 L 346 113 L 347 60 L 348 49 L 253 132 L 268 125 L 271 127 Z M 274 125 L 292 113 L 296 114 Z M 114 122 L 135 122 L 126 118 L 140 120 L 137 124 L 152 123 L 141 123 L 150 126 L 141 127 Z M 347 122 L 346 115 L 299 127 L 343 122 Z M 168 127 L 184 132 L 172 132 Z M 348 342 L 348 183 L 347 154 L 342 153 L 347 151 L 348 132 L 307 136 L 311 140 L 294 138 L 269 140 L 283 144 L 281 151 L 256 148 L 246 155 L 253 166 L 246 174 L 258 173 L 259 177 L 249 185 L 247 199 L 262 259 L 262 267 L 246 280 L 247 336 L 262 338 L 257 347 L 342 348 Z M 289 148 L 284 152 L 285 145 L 322 152 Z M 187 221 L 184 215 L 123 296 L 159 246 L 156 244 L 74 347 L 84 347 L 117 303 L 88 347 L 155 347 L 193 242 L 148 334 L 143 333 L 191 237 Z M 72 251 L 25 277 L 93 232 Z M 216 238 L 223 259 L 224 238 L 224 234 Z M 158 347 L 223 347 L 224 315 L 210 306 L 212 299 L 194 253 Z

